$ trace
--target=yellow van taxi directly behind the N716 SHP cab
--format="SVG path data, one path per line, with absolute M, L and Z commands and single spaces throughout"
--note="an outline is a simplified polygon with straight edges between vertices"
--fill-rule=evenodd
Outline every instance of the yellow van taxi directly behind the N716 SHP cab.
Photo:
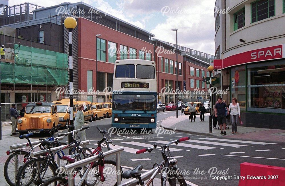
M 60 101 L 53 101 L 52 103 L 56 104 L 56 109 L 58 112 L 59 123 L 62 124 L 62 127 L 68 129 L 69 120 L 70 120 L 70 111 L 69 111 L 69 99 L 62 99 Z M 73 118 L 75 118 L 77 112 L 77 102 L 73 99 Z M 73 119 L 74 120 L 74 119 Z

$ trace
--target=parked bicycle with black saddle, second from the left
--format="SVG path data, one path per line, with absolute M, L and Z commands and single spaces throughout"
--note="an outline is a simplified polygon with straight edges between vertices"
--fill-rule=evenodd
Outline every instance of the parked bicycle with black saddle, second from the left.
M 88 129 L 89 126 L 73 130 L 71 132 L 67 132 L 64 134 L 60 134 L 58 136 L 68 135 L 72 133 L 73 141 L 61 148 L 56 152 L 51 152 L 50 148 L 54 146 L 58 146 L 57 141 L 43 141 L 41 145 L 48 149 L 48 152 L 41 157 L 30 158 L 19 170 L 17 174 L 17 184 L 18 186 L 28 186 L 28 185 L 40 185 L 44 183 L 44 181 L 48 180 L 50 177 L 55 177 L 57 175 L 56 170 L 58 169 L 58 164 L 54 161 L 55 154 L 58 152 L 68 148 L 69 146 L 74 144 L 72 149 L 72 155 L 62 156 L 62 160 L 67 160 L 69 162 L 74 162 L 75 160 L 81 160 L 84 157 L 87 157 L 86 152 L 91 154 L 91 150 L 89 148 L 80 147 L 80 142 L 76 140 L 77 132 Z M 77 152 L 76 154 L 74 154 Z

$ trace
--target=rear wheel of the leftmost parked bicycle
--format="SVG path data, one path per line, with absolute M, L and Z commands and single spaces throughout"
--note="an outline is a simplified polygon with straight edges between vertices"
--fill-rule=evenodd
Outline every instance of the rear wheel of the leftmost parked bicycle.
M 10 154 L 4 165 L 4 177 L 11 186 L 16 186 L 18 170 L 24 165 L 24 158 L 29 156 L 29 152 L 17 150 Z

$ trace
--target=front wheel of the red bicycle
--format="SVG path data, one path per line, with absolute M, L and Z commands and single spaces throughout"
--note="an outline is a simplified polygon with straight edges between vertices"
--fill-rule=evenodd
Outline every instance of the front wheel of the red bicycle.
M 99 162 L 100 163 L 100 162 Z M 105 181 L 100 180 L 99 166 L 93 165 L 90 172 L 87 174 L 84 184 L 87 186 L 116 186 L 117 185 L 117 162 L 113 160 L 104 160 L 104 171 L 103 175 Z M 122 167 L 121 167 L 122 172 Z M 122 180 L 122 176 L 121 176 Z

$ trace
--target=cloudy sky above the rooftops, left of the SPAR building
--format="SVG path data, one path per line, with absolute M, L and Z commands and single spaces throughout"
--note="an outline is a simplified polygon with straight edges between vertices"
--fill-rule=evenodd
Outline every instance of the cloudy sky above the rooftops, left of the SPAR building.
M 9 0 L 9 6 L 30 2 L 49 7 L 67 0 Z M 215 0 L 70 0 L 83 1 L 119 19 L 143 28 L 155 38 L 215 54 Z

